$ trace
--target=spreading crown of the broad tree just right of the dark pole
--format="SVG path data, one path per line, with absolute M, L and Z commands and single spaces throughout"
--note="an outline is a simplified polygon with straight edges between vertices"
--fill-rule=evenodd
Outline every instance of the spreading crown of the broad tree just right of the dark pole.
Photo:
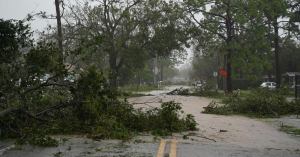
M 137 76 L 146 80 L 141 73 L 153 73 L 151 64 L 156 57 L 176 62 L 184 56 L 188 36 L 181 20 L 184 14 L 177 3 L 87 1 L 75 4 L 67 12 L 65 27 L 71 40 L 68 48 L 75 52 L 72 56 L 85 56 L 83 63 L 106 70 L 114 87 Z

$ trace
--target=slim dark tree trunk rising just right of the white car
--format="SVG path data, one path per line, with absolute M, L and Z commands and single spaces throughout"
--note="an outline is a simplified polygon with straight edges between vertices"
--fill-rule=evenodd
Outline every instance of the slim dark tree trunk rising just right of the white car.
M 276 75 L 276 88 L 280 88 L 281 84 L 281 72 L 279 63 L 279 33 L 278 33 L 278 23 L 277 18 L 273 22 L 274 27 L 274 55 L 275 55 L 275 75 Z

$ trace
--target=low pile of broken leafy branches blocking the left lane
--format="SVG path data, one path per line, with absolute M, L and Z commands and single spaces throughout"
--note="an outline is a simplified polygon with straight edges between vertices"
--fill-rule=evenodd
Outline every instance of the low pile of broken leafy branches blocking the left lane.
M 63 94 L 52 91 L 53 87 L 45 88 L 26 107 L 0 110 L 1 137 L 55 146 L 57 142 L 48 135 L 76 133 L 95 139 L 129 139 L 136 132 L 170 135 L 196 129 L 192 115 L 181 115 L 180 104 L 166 102 L 160 108 L 137 110 L 127 101 L 119 100 L 118 93 L 107 82 L 101 72 L 90 68 Z

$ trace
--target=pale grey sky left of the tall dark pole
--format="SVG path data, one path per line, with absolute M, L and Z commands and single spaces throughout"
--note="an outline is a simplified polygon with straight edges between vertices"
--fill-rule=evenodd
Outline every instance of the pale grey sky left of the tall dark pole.
M 22 20 L 28 13 L 46 11 L 55 13 L 54 0 L 0 0 L 0 18 Z M 33 30 L 42 30 L 47 24 L 55 24 L 55 20 L 35 18 L 32 22 Z

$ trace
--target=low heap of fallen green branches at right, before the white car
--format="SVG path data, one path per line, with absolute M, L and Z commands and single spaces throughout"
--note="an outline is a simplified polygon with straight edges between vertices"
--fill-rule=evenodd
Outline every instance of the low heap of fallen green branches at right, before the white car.
M 257 89 L 244 97 L 228 96 L 223 99 L 223 105 L 211 103 L 205 108 L 204 113 L 278 117 L 295 114 L 296 106 L 295 103 L 288 103 L 280 92 Z

